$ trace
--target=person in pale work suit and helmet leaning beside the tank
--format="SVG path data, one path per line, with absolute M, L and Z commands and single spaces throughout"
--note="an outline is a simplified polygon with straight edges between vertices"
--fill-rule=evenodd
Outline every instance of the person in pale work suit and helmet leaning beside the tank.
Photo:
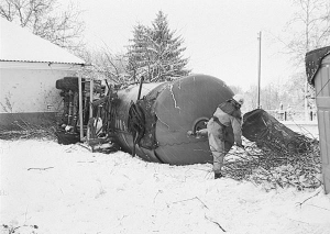
M 209 146 L 213 156 L 215 179 L 222 177 L 221 168 L 223 166 L 223 158 L 228 153 L 224 148 L 224 142 L 228 137 L 227 126 L 232 126 L 237 145 L 244 148 L 242 144 L 241 123 L 241 107 L 243 103 L 243 96 L 235 94 L 232 99 L 218 105 L 213 116 L 207 123 L 207 129 L 199 130 L 196 133 L 188 131 L 189 135 L 196 135 L 197 137 L 208 135 Z

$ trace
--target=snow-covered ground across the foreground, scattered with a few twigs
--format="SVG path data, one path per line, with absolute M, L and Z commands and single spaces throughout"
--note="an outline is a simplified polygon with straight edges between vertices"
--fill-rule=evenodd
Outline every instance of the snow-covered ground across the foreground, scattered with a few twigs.
M 52 141 L 0 141 L 3 233 L 330 233 L 330 194 L 212 179 Z

